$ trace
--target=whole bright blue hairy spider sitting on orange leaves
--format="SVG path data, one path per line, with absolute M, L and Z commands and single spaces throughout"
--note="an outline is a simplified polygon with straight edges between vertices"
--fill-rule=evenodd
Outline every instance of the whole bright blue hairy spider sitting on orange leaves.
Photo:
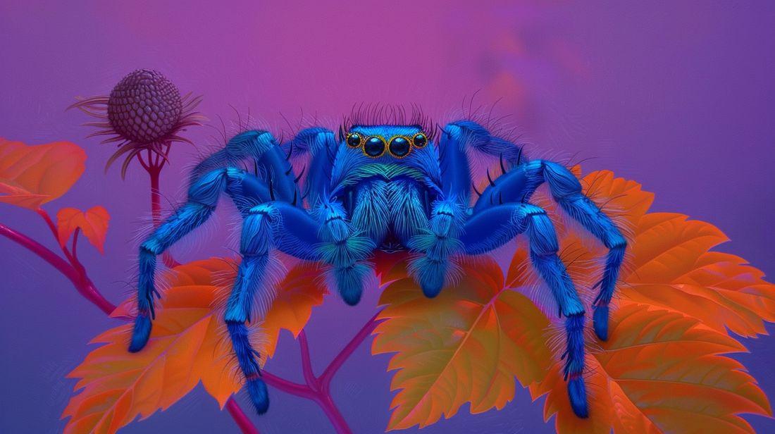
M 294 152 L 310 156 L 298 175 L 290 162 Z M 475 153 L 500 159 L 501 176 L 493 179 L 487 172 L 489 185 L 477 191 L 480 197 L 470 206 L 476 191 L 470 157 Z M 579 181 L 565 167 L 527 160 L 521 146 L 463 120 L 447 124 L 438 140 L 427 126 L 360 124 L 346 126 L 338 136 L 328 129 L 304 129 L 284 144 L 265 131 L 233 137 L 195 167 L 188 202 L 140 246 L 139 312 L 129 351 L 143 349 L 150 336 L 157 255 L 205 222 L 222 192 L 243 218 L 243 259 L 226 305 L 226 325 L 259 413 L 266 412 L 269 400 L 246 322 L 252 320 L 254 304 L 263 315 L 271 302 L 267 271 L 272 250 L 329 264 L 339 294 L 355 305 L 364 277 L 372 273 L 368 260 L 375 250 L 417 253 L 408 269 L 425 295 L 435 297 L 445 284 L 453 284 L 456 257 L 489 252 L 525 233 L 532 266 L 565 317 L 568 394 L 574 412 L 585 418 L 584 307 L 557 256 L 552 221 L 543 208 L 529 203 L 544 183 L 560 207 L 608 248 L 594 301 L 594 330 L 606 339 L 608 302 L 626 248 L 622 233 L 581 193 Z

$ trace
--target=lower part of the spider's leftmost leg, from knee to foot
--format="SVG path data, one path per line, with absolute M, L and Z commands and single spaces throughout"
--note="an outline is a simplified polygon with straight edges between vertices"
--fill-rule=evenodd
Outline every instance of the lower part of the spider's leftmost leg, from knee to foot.
M 159 296 L 153 277 L 156 257 L 197 226 L 202 225 L 215 209 L 222 191 L 226 190 L 228 174 L 218 169 L 203 174 L 188 189 L 188 202 L 177 208 L 158 229 L 140 245 L 140 270 L 137 281 L 137 316 L 129 343 L 129 351 L 136 353 L 148 342 L 151 319 L 155 317 L 153 295 Z

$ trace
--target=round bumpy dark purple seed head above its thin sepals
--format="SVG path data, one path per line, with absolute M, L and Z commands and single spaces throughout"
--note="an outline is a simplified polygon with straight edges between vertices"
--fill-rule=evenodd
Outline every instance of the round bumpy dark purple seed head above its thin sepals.
M 181 119 L 181 92 L 160 72 L 132 71 L 110 91 L 108 121 L 137 144 L 164 139 Z

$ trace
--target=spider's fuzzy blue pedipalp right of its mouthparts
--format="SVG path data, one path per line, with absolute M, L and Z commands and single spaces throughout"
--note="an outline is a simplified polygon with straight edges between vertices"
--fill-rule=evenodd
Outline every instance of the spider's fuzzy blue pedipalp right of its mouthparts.
M 409 273 L 428 298 L 436 297 L 445 281 L 456 273 L 456 264 L 450 260 L 463 250 L 458 237 L 463 232 L 465 212 L 457 198 L 433 202 L 428 230 L 412 237 L 409 247 L 422 253 L 409 263 Z

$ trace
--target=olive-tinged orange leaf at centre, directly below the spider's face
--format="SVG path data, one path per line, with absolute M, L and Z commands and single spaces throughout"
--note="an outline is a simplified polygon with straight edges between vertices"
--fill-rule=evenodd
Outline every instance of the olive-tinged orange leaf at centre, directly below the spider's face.
M 372 353 L 395 354 L 398 370 L 388 429 L 422 428 L 454 415 L 503 408 L 523 385 L 543 379 L 550 355 L 543 336 L 546 317 L 528 298 L 507 290 L 503 273 L 485 258 L 463 266 L 463 279 L 436 298 L 425 298 L 412 278 L 394 281 L 380 298 Z

